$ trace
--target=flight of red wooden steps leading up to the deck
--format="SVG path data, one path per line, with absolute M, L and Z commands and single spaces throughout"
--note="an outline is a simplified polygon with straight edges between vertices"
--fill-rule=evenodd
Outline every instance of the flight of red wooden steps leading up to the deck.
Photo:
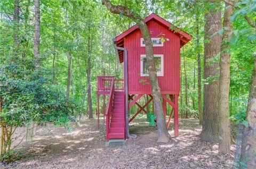
M 124 91 L 114 92 L 114 102 L 110 119 L 108 139 L 125 138 Z

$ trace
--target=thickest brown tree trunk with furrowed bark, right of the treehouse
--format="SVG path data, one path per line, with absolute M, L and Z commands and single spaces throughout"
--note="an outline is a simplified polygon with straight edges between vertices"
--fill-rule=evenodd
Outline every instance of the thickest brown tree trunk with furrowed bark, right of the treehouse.
M 203 128 L 201 132 L 201 140 L 207 142 L 217 142 L 219 141 L 219 63 L 214 62 L 213 58 L 220 53 L 221 36 L 210 36 L 221 29 L 220 9 L 218 11 L 216 11 L 215 9 L 209 9 L 209 12 L 205 14 L 205 20 L 204 79 L 208 81 L 207 84 L 204 85 Z M 207 43 L 207 40 L 210 40 L 210 42 Z

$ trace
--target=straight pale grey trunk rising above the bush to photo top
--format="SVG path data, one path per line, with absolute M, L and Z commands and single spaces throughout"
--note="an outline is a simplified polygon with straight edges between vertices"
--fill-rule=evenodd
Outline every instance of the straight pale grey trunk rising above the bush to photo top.
M 39 0 L 35 0 L 35 36 L 34 36 L 35 70 L 39 69 L 39 43 L 40 43 L 40 9 L 39 9 Z

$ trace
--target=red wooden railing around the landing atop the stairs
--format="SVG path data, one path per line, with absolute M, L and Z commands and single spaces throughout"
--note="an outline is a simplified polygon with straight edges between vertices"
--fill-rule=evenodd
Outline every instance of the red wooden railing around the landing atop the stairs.
M 112 80 L 115 81 L 115 84 L 114 84 L 115 91 L 124 91 L 124 80 L 123 79 L 115 79 L 114 76 L 99 76 L 99 77 L 97 77 L 98 91 L 110 91 Z

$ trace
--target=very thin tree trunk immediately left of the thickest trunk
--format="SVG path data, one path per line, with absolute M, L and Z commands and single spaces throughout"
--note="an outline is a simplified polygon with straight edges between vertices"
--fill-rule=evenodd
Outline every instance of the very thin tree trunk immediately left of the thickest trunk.
M 199 112 L 199 124 L 203 122 L 202 112 L 202 85 L 201 85 L 201 55 L 199 51 L 199 26 L 198 16 L 196 16 L 196 45 L 197 45 L 197 86 L 198 86 L 198 112 Z

